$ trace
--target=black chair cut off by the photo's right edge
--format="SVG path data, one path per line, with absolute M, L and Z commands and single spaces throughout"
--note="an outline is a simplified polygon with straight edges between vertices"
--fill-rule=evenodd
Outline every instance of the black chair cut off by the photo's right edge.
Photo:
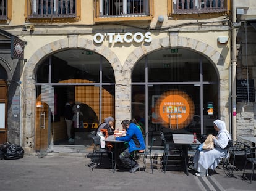
M 244 151 L 245 151 L 245 164 L 244 164 L 244 172 L 242 173 L 242 176 L 245 174 L 245 168 L 247 163 L 252 163 L 252 172 L 250 173 L 250 183 L 252 183 L 252 176 L 254 174 L 254 165 L 256 165 L 256 158 L 255 158 L 255 150 L 256 147 L 250 147 L 249 145 L 244 144 Z

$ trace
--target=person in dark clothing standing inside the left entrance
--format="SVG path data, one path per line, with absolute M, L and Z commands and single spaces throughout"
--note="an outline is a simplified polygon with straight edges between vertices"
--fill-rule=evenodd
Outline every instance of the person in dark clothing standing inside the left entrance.
M 72 105 L 74 104 L 73 99 L 69 99 L 69 102 L 66 103 L 65 105 L 65 110 L 64 110 L 64 118 L 66 121 L 66 126 L 67 126 L 67 139 L 69 142 L 74 142 L 74 138 L 72 137 L 72 125 L 73 125 L 73 110 L 72 110 Z

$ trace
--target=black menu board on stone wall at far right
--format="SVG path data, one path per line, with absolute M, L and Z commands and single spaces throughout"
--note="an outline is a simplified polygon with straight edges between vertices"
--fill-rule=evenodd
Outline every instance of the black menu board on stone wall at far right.
M 248 102 L 248 92 L 249 92 L 249 101 L 255 101 L 254 95 L 254 80 L 249 79 L 242 79 L 237 80 L 236 82 L 236 95 L 237 95 L 237 102 Z

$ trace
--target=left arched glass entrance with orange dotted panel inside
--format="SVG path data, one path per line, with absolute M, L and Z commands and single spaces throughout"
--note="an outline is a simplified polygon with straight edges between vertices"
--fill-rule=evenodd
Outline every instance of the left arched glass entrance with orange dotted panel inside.
M 72 105 L 74 142 L 67 141 L 64 107 Z M 90 145 L 88 135 L 108 116 L 114 116 L 114 71 L 101 55 L 69 49 L 50 55 L 36 68 L 36 151 L 50 145 Z

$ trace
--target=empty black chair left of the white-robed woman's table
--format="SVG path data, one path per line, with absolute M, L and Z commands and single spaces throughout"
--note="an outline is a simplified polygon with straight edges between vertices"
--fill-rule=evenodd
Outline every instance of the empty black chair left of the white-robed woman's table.
M 184 169 L 187 165 L 181 145 L 172 142 L 167 143 L 163 132 L 160 134 L 164 144 L 164 152 L 161 158 L 161 171 L 166 173 L 167 166 L 173 170 Z

